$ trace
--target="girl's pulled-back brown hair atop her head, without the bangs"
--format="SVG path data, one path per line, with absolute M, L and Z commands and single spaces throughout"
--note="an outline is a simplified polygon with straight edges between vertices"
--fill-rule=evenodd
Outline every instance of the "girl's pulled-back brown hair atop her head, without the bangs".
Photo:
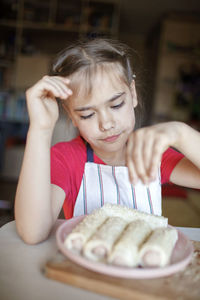
M 131 83 L 133 72 L 128 46 L 100 38 L 78 41 L 58 53 L 53 63 L 52 75 L 70 76 L 80 69 L 100 63 L 119 63 L 123 67 L 127 82 Z

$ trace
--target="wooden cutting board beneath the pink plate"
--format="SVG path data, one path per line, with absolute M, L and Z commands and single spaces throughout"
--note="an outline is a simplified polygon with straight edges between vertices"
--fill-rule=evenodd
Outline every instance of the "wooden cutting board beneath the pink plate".
M 62 256 L 47 262 L 45 275 L 69 285 L 123 300 L 200 299 L 200 242 L 185 270 L 155 279 L 124 279 L 87 270 Z M 63 260 L 64 257 L 64 260 Z

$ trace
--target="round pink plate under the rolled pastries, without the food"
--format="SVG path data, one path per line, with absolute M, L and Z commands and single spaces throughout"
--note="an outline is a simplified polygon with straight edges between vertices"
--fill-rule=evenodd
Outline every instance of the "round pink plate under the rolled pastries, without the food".
M 64 245 L 64 240 L 66 236 L 72 231 L 72 229 L 83 220 L 84 216 L 75 217 L 64 222 L 58 228 L 56 232 L 57 244 L 61 252 L 67 256 L 70 260 L 79 264 L 86 269 L 110 275 L 115 277 L 123 278 L 155 278 L 169 276 L 173 273 L 181 271 L 190 262 L 193 253 L 193 246 L 191 241 L 179 230 L 178 231 L 178 241 L 174 247 L 171 262 L 168 266 L 163 268 L 123 268 L 106 265 L 104 263 L 96 263 L 87 260 L 85 257 L 74 254 L 68 250 Z

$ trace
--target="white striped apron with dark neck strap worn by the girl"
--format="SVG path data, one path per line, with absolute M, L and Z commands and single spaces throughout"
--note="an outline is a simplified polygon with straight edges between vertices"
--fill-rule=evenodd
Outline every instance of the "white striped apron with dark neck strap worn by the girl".
M 87 144 L 87 162 L 73 216 L 90 214 L 104 203 L 120 204 L 160 216 L 160 169 L 156 180 L 148 186 L 141 181 L 133 186 L 129 181 L 127 167 L 94 163 L 93 150 Z

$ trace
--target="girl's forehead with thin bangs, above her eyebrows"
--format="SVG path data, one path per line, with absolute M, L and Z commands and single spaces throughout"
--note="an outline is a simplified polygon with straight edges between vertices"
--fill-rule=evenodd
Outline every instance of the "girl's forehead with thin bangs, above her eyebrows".
M 91 101 L 100 97 L 109 97 L 113 93 L 128 88 L 128 83 L 122 67 L 118 64 L 107 63 L 82 69 L 70 77 L 70 88 L 73 96 L 71 104 Z M 106 100 L 106 99 L 105 99 Z

